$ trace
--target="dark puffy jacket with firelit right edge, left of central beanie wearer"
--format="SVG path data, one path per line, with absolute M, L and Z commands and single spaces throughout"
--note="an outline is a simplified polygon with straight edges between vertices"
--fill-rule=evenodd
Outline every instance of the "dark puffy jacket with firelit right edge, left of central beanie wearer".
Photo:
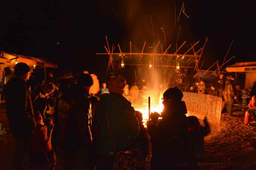
M 87 149 L 92 144 L 91 102 L 83 87 L 74 85 L 72 97 L 60 100 L 58 107 L 58 143 L 65 150 Z

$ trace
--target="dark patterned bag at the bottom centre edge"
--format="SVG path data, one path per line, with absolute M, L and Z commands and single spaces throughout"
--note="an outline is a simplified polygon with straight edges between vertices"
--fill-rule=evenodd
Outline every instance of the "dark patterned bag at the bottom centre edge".
M 145 159 L 140 149 L 111 152 L 115 157 L 114 170 L 146 170 Z

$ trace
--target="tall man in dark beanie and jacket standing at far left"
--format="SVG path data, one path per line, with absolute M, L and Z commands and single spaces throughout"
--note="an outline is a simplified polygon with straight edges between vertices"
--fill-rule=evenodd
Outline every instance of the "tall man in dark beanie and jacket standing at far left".
M 14 67 L 15 77 L 8 81 L 6 90 L 6 114 L 12 135 L 15 137 L 13 169 L 22 169 L 28 152 L 28 139 L 34 134 L 36 121 L 27 81 L 30 68 L 26 63 Z

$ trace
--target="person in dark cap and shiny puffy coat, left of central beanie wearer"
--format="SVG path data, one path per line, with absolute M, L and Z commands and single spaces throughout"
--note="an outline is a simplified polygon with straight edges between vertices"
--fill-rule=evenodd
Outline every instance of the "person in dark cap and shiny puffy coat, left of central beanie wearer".
M 58 144 L 65 153 L 65 169 L 88 168 L 88 156 L 92 144 L 91 102 L 88 99 L 92 77 L 82 74 L 77 84 L 69 85 L 71 97 L 59 101 Z

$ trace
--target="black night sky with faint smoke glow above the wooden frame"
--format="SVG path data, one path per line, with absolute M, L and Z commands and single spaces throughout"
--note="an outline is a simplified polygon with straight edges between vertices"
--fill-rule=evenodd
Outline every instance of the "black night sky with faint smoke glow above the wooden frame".
M 205 61 L 203 69 L 216 60 L 222 63 L 232 39 L 234 43 L 227 58 L 236 57 L 226 66 L 255 61 L 252 4 L 185 0 L 185 13 L 189 18 L 181 12 L 177 21 L 182 3 L 176 0 L 175 25 L 175 2 L 172 0 L 5 2 L 0 10 L 0 50 L 46 58 L 64 70 L 82 67 L 102 78 L 108 56 L 95 54 L 105 52 L 105 36 L 110 45 L 115 44 L 116 52 L 117 43 L 123 52 L 129 52 L 129 41 L 132 41 L 133 52 L 140 52 L 144 41 L 147 41 L 147 49 L 153 47 L 152 17 L 155 43 L 164 43 L 161 27 L 164 28 L 166 44 L 172 44 L 169 53 L 176 48 L 180 26 L 178 47 L 187 41 L 184 51 L 180 52 L 185 52 L 190 43 L 196 41 L 200 41 L 196 48 L 201 48 L 209 37 L 202 58 Z

